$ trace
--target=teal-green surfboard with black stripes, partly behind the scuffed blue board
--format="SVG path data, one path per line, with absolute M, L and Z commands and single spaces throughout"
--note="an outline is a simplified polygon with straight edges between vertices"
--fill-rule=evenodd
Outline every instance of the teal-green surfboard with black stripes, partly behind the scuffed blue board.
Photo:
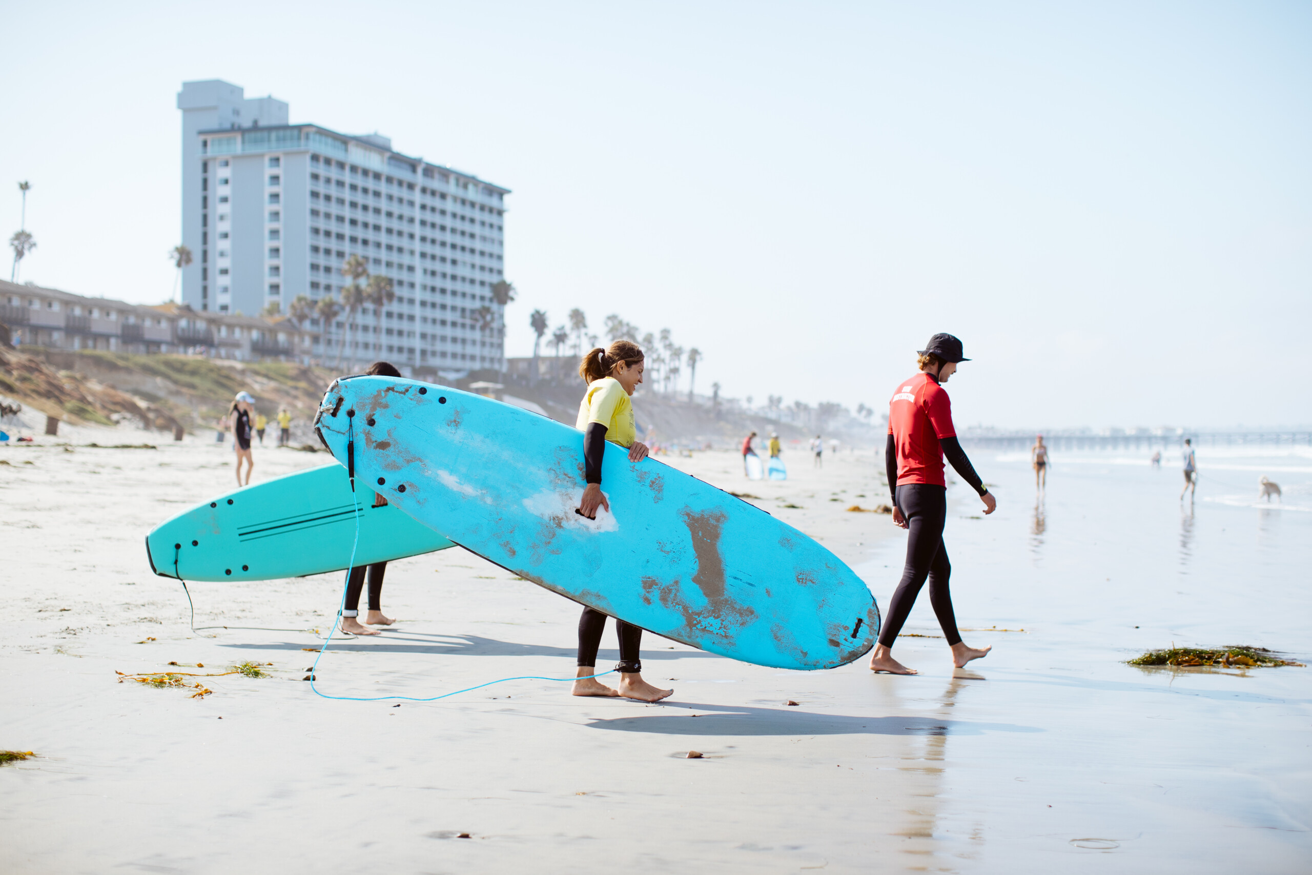
M 401 510 L 374 508 L 374 492 L 340 464 L 289 474 L 228 492 L 161 522 L 146 535 L 151 569 L 182 580 L 270 580 L 451 547 Z M 358 501 L 358 510 L 357 502 Z

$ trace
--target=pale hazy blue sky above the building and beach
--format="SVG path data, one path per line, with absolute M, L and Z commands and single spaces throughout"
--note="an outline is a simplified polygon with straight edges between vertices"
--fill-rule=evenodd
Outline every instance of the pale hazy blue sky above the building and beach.
M 226 79 L 513 189 L 510 356 L 530 310 L 581 307 L 701 348 L 699 391 L 884 409 L 949 331 L 962 425 L 1312 422 L 1307 3 L 43 3 L 0 30 L 22 279 L 163 300 L 174 94 Z

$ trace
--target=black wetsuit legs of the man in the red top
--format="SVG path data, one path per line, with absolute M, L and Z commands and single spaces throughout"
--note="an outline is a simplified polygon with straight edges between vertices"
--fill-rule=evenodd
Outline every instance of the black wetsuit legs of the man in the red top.
M 956 617 L 953 614 L 953 596 L 947 590 L 947 577 L 953 567 L 947 561 L 947 547 L 943 546 L 943 522 L 947 518 L 947 491 L 929 483 L 912 483 L 897 487 L 897 508 L 907 518 L 911 538 L 907 540 L 907 565 L 903 568 L 901 582 L 888 602 L 888 615 L 879 630 L 879 643 L 892 647 L 897 640 L 911 606 L 916 603 L 920 588 L 929 579 L 929 602 L 938 615 L 943 638 L 949 647 L 959 644 Z

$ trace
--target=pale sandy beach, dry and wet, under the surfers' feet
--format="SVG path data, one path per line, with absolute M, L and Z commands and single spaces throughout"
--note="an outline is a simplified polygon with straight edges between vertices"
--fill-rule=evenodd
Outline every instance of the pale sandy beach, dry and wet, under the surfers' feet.
M 135 443 L 142 433 L 71 437 Z M 897 656 L 922 674 L 893 678 L 861 664 L 764 669 L 647 636 L 646 676 L 676 690 L 656 706 L 518 681 L 394 707 L 319 698 L 300 680 L 340 575 L 193 584 L 197 626 L 228 628 L 188 628 L 180 586 L 151 575 L 142 539 L 230 488 L 231 453 L 190 438 L 159 447 L 0 450 L 10 462 L 0 466 L 0 748 L 39 754 L 0 769 L 7 872 L 1295 872 L 1312 859 L 1312 669 L 1120 661 L 1172 634 L 1305 645 L 1288 634 L 1308 596 L 1281 580 L 1302 560 L 1288 552 L 1302 522 L 1249 565 L 1199 555 L 1211 543 L 1202 533 L 1220 523 L 1195 517 L 1194 592 L 1181 598 L 1172 505 L 1158 567 L 1118 550 L 1115 530 L 1076 519 L 1110 513 L 1106 495 L 1097 506 L 1081 496 L 1115 496 L 1114 480 L 1059 481 L 1055 468 L 1035 535 L 1027 468 L 977 459 L 1001 509 L 971 519 L 970 496 L 951 493 L 958 618 L 1026 631 L 967 634 L 996 645 L 972 670 L 954 672 L 934 638 L 901 639 Z M 732 454 L 663 460 L 760 496 L 886 606 L 901 533 L 887 516 L 844 510 L 887 500 L 874 455 L 844 451 L 823 472 L 808 454 L 786 459 L 786 483 L 747 481 Z M 325 462 L 256 447 L 256 480 Z M 1155 534 L 1143 521 L 1138 530 Z M 1242 589 L 1199 568 L 1227 563 L 1250 568 Z M 1136 569 L 1148 573 L 1136 580 Z M 1169 597 L 1156 593 L 1165 575 Z M 937 635 L 921 601 L 907 632 Z M 383 607 L 396 626 L 336 639 L 321 691 L 428 697 L 573 672 L 577 606 L 459 548 L 390 565 Z M 1244 640 L 1211 640 L 1229 631 Z M 604 645 L 607 664 L 610 628 Z M 210 678 L 203 699 L 114 674 L 245 660 L 273 662 L 273 677 Z M 690 749 L 705 756 L 687 760 Z

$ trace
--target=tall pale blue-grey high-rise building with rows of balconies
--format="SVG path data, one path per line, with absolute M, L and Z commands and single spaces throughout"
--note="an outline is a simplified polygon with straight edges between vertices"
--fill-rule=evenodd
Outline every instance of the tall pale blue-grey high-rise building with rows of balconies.
M 509 189 L 392 150 L 378 134 L 289 125 L 287 104 L 222 80 L 182 83 L 182 300 L 256 315 L 340 298 L 350 256 L 395 300 L 324 320 L 315 356 L 467 371 L 504 367 Z

